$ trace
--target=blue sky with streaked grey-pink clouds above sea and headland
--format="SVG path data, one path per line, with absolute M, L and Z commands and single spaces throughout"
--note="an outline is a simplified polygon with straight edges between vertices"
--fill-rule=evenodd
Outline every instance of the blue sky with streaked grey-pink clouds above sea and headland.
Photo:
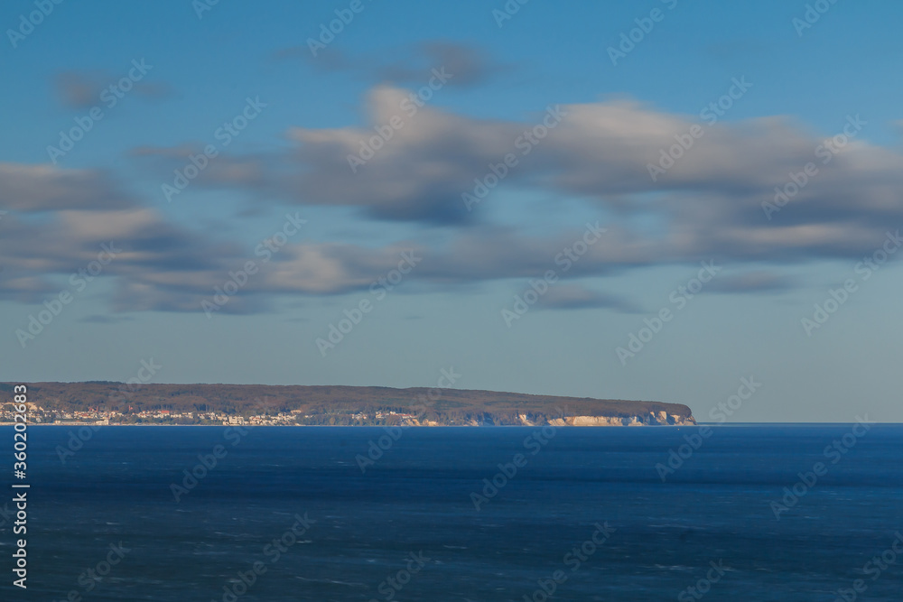
M 0 380 L 903 421 L 900 17 L 5 2 Z

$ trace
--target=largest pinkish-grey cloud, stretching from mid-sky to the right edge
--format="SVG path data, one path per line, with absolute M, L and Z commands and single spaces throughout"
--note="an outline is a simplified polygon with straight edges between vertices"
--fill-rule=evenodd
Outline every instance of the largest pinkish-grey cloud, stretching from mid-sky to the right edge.
M 368 97 L 370 123 L 399 115 L 407 93 L 379 87 Z M 903 222 L 903 156 L 852 138 L 825 154 L 825 141 L 783 117 L 705 125 L 704 134 L 672 169 L 650 177 L 649 165 L 699 120 L 632 102 L 560 107 L 563 121 L 537 144 L 525 133 L 542 112 L 522 121 L 480 120 L 429 105 L 357 168 L 373 126 L 294 128 L 295 176 L 282 184 L 301 204 L 356 206 L 370 217 L 448 226 L 479 222 L 462 194 L 490 164 L 514 153 L 498 189 L 546 190 L 585 199 L 619 216 L 663 225 L 664 256 L 712 255 L 741 261 L 803 261 L 849 257 L 880 242 L 888 224 Z M 554 109 L 553 109 L 554 110 Z M 849 120 L 857 120 L 850 116 Z M 849 121 L 841 116 L 838 131 Z M 538 127 L 538 133 L 545 129 Z M 809 162 L 817 173 L 779 213 L 763 203 Z

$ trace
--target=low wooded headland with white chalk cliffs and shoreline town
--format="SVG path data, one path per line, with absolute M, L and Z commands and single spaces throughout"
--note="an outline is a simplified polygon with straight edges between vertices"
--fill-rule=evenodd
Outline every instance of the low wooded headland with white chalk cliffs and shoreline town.
M 13 387 L 0 383 L 0 421 Z M 45 424 L 285 426 L 642 426 L 696 421 L 686 405 L 452 388 L 265 384 L 33 383 L 29 421 Z

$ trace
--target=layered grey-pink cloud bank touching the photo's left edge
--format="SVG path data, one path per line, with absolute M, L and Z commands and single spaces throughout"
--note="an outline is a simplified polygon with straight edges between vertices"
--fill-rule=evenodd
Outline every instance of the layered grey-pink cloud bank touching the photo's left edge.
M 70 289 L 70 275 L 97 262 L 105 246 L 116 256 L 98 277 L 113 279 L 126 292 L 175 282 L 171 292 L 198 297 L 200 284 L 225 273 L 229 260 L 244 251 L 166 221 L 95 171 L 5 163 L 0 164 L 0 190 L 0 200 L 10 208 L 0 237 L 5 268 L 0 299 L 35 303 Z M 210 277 L 205 281 L 199 274 Z M 154 307 L 133 301 L 133 307 L 117 307 Z

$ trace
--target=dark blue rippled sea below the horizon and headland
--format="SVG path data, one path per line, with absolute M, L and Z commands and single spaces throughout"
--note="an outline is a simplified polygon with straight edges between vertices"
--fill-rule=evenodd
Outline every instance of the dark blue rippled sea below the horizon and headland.
M 0 599 L 903 599 L 899 426 L 721 427 L 698 449 L 687 427 L 106 427 L 63 463 L 70 431 L 29 429 L 28 590 L 0 519 Z M 692 454 L 663 482 L 671 449 Z

